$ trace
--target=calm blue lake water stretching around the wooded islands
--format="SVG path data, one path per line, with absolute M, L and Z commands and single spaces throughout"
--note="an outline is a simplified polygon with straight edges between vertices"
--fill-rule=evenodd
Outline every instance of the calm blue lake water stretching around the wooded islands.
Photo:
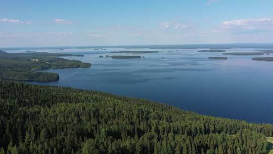
M 99 58 L 99 55 L 133 55 L 110 54 L 111 51 L 119 50 L 128 49 L 40 50 L 84 54 L 84 57 L 65 58 L 93 65 L 90 68 L 46 70 L 59 73 L 60 81 L 32 83 L 147 98 L 202 114 L 273 124 L 273 62 L 252 61 L 253 56 L 199 53 L 197 50 L 181 49 L 136 54 L 145 56 L 141 59 Z M 253 50 L 231 49 L 227 52 Z M 210 56 L 229 59 L 209 60 Z

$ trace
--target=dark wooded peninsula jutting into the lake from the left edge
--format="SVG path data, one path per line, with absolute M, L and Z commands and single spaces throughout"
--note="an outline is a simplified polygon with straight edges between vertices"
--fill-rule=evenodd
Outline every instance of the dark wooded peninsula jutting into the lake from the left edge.
M 57 73 L 39 72 L 41 69 L 90 67 L 91 64 L 61 56 L 83 56 L 58 53 L 7 53 L 0 51 L 0 79 L 20 81 L 58 81 Z

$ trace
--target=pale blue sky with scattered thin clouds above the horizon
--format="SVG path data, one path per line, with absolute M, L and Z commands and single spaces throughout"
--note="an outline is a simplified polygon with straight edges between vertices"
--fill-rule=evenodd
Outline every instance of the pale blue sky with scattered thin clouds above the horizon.
M 0 0 L 0 47 L 273 43 L 272 0 Z

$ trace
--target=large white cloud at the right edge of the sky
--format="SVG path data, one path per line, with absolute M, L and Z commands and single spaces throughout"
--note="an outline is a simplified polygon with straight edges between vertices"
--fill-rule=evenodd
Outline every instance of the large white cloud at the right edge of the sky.
M 223 28 L 241 28 L 246 30 L 254 29 L 272 29 L 273 19 L 272 18 L 258 18 L 258 19 L 241 19 L 224 21 L 221 26 Z

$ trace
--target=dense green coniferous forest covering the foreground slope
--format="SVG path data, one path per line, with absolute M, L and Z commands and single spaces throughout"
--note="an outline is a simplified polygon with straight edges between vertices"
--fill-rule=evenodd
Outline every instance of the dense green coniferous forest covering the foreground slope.
M 1 154 L 267 153 L 272 135 L 144 99 L 0 81 Z

